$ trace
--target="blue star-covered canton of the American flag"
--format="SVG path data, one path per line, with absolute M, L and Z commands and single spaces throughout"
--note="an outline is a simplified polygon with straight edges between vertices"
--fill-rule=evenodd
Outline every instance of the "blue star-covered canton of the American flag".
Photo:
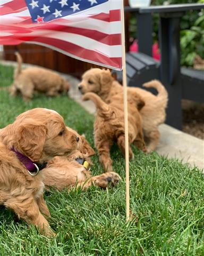
M 108 0 L 25 0 L 33 22 L 47 22 L 87 10 Z

